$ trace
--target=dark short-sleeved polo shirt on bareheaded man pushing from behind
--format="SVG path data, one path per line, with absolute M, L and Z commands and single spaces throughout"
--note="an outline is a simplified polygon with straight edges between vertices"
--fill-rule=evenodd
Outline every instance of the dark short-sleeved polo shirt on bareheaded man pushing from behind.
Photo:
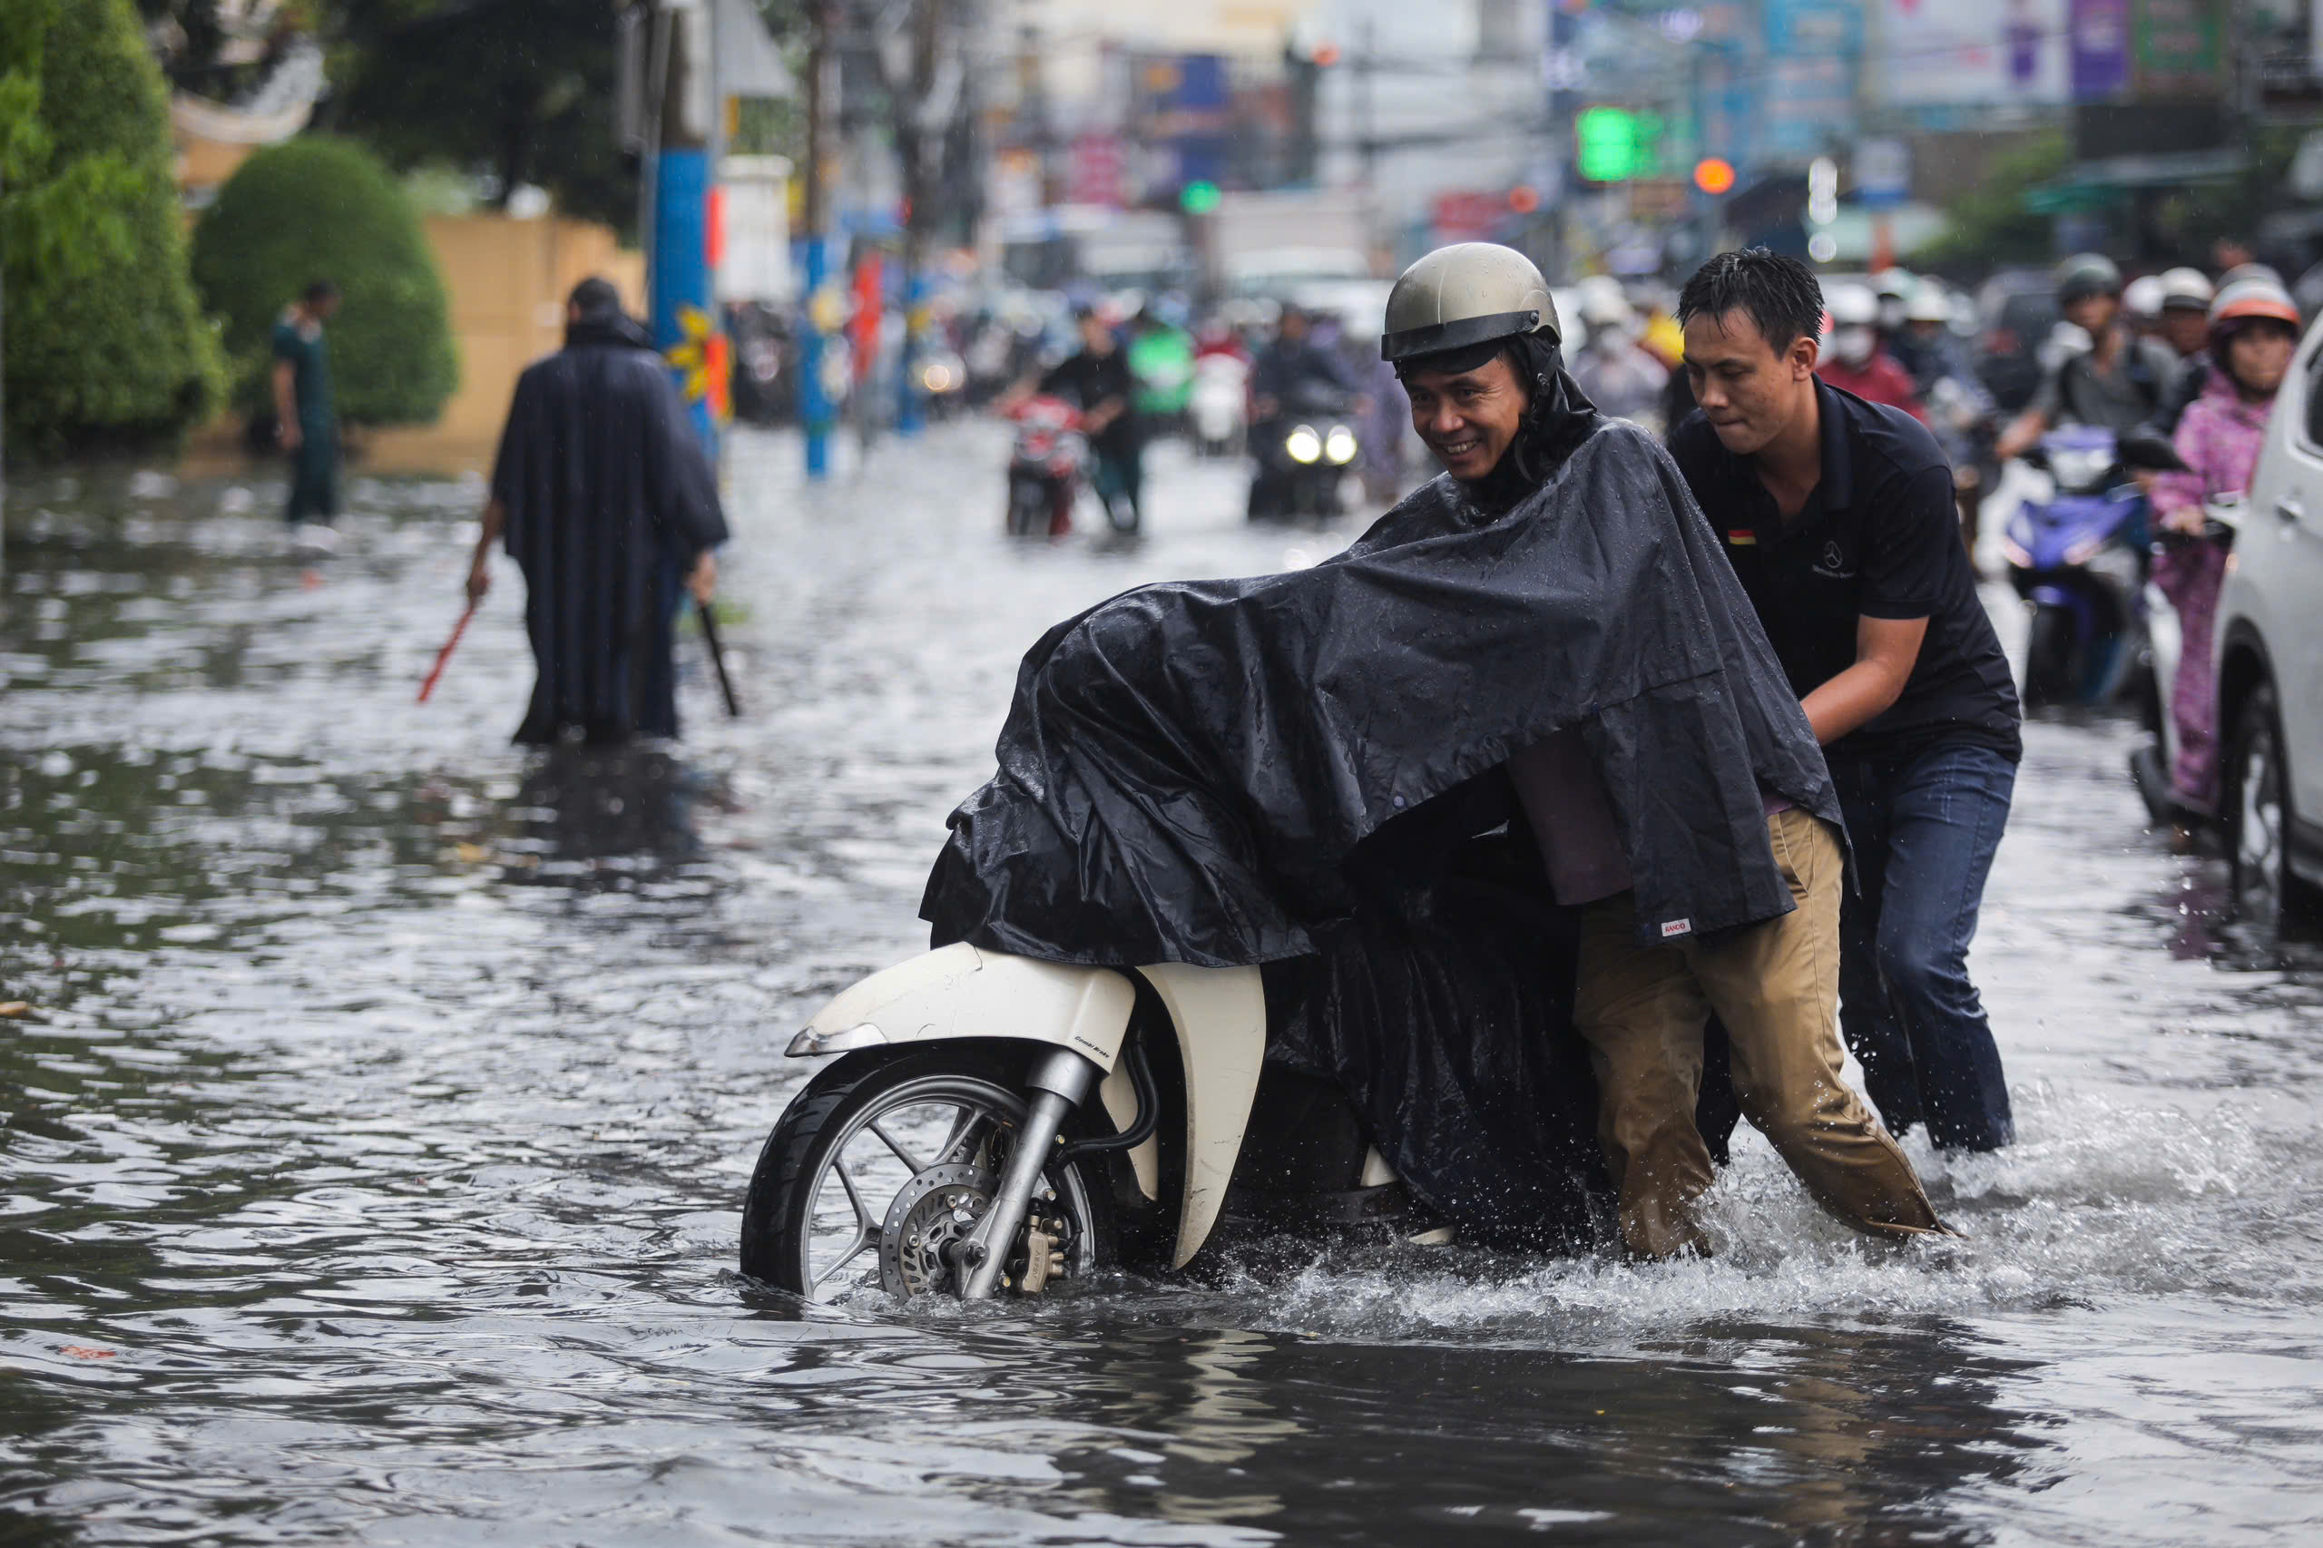
M 1940 741 L 1970 741 L 2016 760 L 2016 683 L 1961 546 L 1951 465 L 1903 409 L 1828 381 L 1814 393 L 1824 476 L 1789 523 L 1749 460 L 1726 451 L 1698 411 L 1670 435 L 1670 456 L 1800 697 L 1856 665 L 1858 618 L 1928 621 L 1903 697 L 1824 755 L 1912 758 Z

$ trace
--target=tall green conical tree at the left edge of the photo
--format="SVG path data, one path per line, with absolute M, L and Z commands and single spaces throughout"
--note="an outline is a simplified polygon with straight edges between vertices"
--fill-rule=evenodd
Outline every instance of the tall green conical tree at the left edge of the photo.
M 130 0 L 0 0 L 7 432 L 56 456 L 167 439 L 218 395 Z

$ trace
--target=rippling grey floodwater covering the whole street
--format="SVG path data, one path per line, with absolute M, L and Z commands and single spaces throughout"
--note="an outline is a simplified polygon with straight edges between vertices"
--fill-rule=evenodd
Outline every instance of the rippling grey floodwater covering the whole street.
M 736 437 L 746 718 L 539 765 L 474 481 L 12 490 L 0 1541 L 2311 1543 L 2323 969 L 2207 923 L 2121 725 L 2030 728 L 1977 969 L 2021 1144 L 1865 1246 L 1747 1137 L 1707 1264 L 1322 1257 L 804 1316 L 734 1274 L 790 1032 L 925 937 L 1015 658 L 1315 558 L 1220 465 L 1013 546 L 1001 442 Z M 699 665 L 699 642 L 681 642 Z

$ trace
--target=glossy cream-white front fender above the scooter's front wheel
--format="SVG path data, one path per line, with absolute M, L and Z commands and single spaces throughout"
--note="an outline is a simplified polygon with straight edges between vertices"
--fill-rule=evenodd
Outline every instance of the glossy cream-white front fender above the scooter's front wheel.
M 1110 1074 L 1136 1002 L 1136 986 L 1110 967 L 1036 962 L 959 941 L 841 990 L 790 1041 L 790 1058 L 1013 1037 L 1071 1048 Z

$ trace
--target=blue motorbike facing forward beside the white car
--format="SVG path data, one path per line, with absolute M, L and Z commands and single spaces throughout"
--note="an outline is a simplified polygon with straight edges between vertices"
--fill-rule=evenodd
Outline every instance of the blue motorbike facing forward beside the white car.
M 2026 463 L 2056 481 L 2016 507 L 2002 542 L 2030 611 L 2026 709 L 2109 704 L 2146 660 L 2146 497 L 2112 430 L 2054 430 Z

